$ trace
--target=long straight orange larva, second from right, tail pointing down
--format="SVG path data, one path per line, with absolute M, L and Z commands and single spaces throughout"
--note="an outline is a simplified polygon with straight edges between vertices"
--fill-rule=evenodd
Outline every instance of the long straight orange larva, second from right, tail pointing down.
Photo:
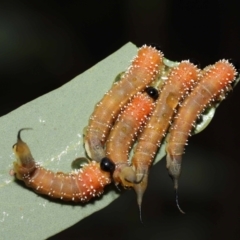
M 192 90 L 198 80 L 198 75 L 199 70 L 189 61 L 182 61 L 170 71 L 168 80 L 156 101 L 156 107 L 139 136 L 132 157 L 136 179 L 137 181 L 142 179 L 141 183 L 133 185 L 139 207 L 141 207 L 142 197 L 147 187 L 148 172 L 153 158 L 168 130 L 179 102 L 187 92 Z

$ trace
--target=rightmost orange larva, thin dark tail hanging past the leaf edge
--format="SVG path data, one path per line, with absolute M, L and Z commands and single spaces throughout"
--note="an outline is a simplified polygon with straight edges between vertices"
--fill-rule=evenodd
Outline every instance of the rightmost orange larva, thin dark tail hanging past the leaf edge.
M 227 60 L 220 60 L 202 71 L 199 84 L 185 99 L 170 129 L 167 137 L 167 169 L 174 182 L 174 189 L 178 189 L 178 179 L 181 172 L 182 154 L 188 136 L 195 126 L 198 116 L 211 102 L 223 97 L 235 80 L 237 72 Z

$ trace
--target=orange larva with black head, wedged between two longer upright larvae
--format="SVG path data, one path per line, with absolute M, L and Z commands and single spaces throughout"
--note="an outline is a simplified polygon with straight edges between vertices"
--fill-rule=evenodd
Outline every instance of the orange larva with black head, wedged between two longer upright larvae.
M 154 107 L 158 91 L 148 87 L 145 93 L 136 94 L 119 115 L 106 142 L 106 156 L 115 163 L 113 180 L 116 185 L 132 186 L 134 172 L 128 162 L 128 154 L 140 128 Z

